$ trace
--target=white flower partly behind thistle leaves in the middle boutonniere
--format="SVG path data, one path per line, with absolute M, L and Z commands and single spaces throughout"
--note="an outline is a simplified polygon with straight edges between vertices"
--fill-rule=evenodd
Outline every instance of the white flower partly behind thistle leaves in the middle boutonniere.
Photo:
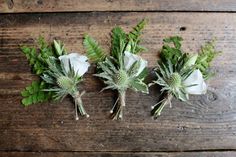
M 140 56 L 135 55 L 133 53 L 130 53 L 129 51 L 125 51 L 125 56 L 124 56 L 124 65 L 125 65 L 125 69 L 129 70 L 131 68 L 131 66 L 136 62 L 139 61 L 140 65 L 138 67 L 138 71 L 135 74 L 135 76 L 138 76 L 143 70 L 144 68 L 147 66 L 147 61 L 142 59 Z

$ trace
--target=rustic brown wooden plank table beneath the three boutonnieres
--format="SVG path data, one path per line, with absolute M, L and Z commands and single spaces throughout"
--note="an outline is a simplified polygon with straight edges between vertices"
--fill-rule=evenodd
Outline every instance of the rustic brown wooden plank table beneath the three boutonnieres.
M 236 156 L 236 1 L 235 0 L 0 0 L 0 156 Z M 60 39 L 68 51 L 84 53 L 83 34 L 93 35 L 109 49 L 115 25 L 125 30 L 143 19 L 149 23 L 143 57 L 155 66 L 162 39 L 184 38 L 184 49 L 199 50 L 216 37 L 223 53 L 204 96 L 191 104 L 174 100 L 154 120 L 150 106 L 160 94 L 127 93 L 123 121 L 109 119 L 112 91 L 85 76 L 83 97 L 91 117 L 74 120 L 70 99 L 23 107 L 20 91 L 36 76 L 19 44 L 34 45 L 39 35 Z

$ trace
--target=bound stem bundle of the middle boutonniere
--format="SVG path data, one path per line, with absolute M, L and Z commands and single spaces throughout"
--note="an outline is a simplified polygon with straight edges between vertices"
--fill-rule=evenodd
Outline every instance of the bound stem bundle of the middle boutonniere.
M 116 109 L 115 113 L 113 114 L 113 120 L 116 119 L 123 119 L 124 116 L 124 108 L 125 108 L 125 97 L 126 97 L 126 91 L 119 91 L 119 97 L 117 100 L 119 100 L 119 103 L 115 103 L 113 108 L 112 108 L 112 112 L 113 110 Z

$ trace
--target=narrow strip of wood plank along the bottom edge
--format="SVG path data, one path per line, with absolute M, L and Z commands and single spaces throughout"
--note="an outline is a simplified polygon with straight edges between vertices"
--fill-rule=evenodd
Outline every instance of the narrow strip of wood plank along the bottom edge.
M 235 157 L 235 152 L 158 152 L 158 153 L 119 153 L 119 152 L 0 152 L 3 157 Z

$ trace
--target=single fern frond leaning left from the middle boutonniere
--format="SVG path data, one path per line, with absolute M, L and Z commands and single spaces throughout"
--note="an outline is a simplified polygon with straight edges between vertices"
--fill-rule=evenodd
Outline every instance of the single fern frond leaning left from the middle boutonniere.
M 104 50 L 92 37 L 85 35 L 83 44 L 86 49 L 87 56 L 91 61 L 97 63 L 105 59 L 106 54 L 104 53 Z

